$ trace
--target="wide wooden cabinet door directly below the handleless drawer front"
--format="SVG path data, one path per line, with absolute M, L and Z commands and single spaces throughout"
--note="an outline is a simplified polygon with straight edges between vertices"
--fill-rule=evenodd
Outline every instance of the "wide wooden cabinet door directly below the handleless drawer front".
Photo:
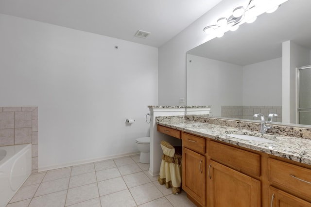
M 208 207 L 260 207 L 260 181 L 209 160 Z

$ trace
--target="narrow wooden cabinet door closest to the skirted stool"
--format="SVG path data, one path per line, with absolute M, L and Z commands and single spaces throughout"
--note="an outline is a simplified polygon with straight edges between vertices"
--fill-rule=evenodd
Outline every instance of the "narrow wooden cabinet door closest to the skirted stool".
M 183 147 L 182 187 L 199 204 L 205 206 L 206 159 L 188 148 Z

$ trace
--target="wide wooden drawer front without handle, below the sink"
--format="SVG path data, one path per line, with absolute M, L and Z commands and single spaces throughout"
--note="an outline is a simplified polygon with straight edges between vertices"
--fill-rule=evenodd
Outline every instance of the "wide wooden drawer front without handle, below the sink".
M 211 159 L 237 171 L 260 176 L 260 155 L 258 154 L 209 141 L 208 155 Z

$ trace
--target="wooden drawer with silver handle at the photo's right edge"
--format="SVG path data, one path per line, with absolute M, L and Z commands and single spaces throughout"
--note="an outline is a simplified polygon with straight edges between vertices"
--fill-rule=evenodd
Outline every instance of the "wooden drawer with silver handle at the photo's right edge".
M 268 159 L 269 181 L 283 186 L 290 191 L 311 197 L 311 170 L 279 161 Z

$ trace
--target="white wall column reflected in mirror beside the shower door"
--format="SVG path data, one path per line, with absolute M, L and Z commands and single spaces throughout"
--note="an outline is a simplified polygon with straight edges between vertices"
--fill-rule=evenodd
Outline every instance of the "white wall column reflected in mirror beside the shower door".
M 296 67 L 309 65 L 311 54 L 309 49 L 286 41 L 282 44 L 282 56 L 282 118 L 285 123 L 296 123 Z

